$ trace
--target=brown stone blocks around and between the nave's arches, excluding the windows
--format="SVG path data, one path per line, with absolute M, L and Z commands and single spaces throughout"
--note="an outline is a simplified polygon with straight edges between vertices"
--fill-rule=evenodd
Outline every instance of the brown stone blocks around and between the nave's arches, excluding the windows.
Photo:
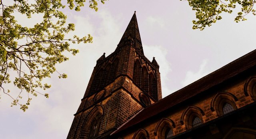
M 255 99 L 253 99 L 250 95 L 246 96 L 244 93 L 244 86 L 247 79 L 248 77 L 242 77 L 242 79 L 236 79 L 235 81 L 230 80 L 231 82 L 223 83 L 221 86 L 215 89 L 207 90 L 204 92 L 204 95 L 195 96 L 190 100 L 184 101 L 183 103 L 180 103 L 175 107 L 162 112 L 158 116 L 152 117 L 151 119 L 148 119 L 139 125 L 133 126 L 133 128 L 129 128 L 126 131 L 121 131 L 121 133 L 118 133 L 117 135 L 123 139 L 132 139 L 138 129 L 145 129 L 149 134 L 149 139 L 157 139 L 157 136 L 154 132 L 157 124 L 163 118 L 171 119 L 174 121 L 175 128 L 172 129 L 174 136 L 183 133 L 184 131 L 188 131 L 189 129 L 186 128 L 186 124 L 182 124 L 180 121 L 182 113 L 189 106 L 196 106 L 202 109 L 204 112 L 204 115 L 202 116 L 203 123 L 212 121 L 220 117 L 217 115 L 216 110 L 211 110 L 212 99 L 214 99 L 214 96 L 218 92 L 228 92 L 234 95 L 238 99 L 234 102 L 237 109 L 255 101 Z

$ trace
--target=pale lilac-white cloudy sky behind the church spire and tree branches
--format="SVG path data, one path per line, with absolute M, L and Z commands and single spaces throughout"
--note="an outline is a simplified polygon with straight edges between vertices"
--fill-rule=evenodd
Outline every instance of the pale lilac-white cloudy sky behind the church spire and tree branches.
M 84 95 L 96 60 L 105 52 L 114 52 L 134 11 L 138 20 L 144 55 L 151 61 L 156 57 L 160 65 L 162 96 L 218 70 L 255 49 L 256 18 L 235 23 L 236 14 L 222 14 L 222 20 L 205 30 L 192 30 L 195 12 L 187 1 L 180 0 L 109 0 L 98 5 L 98 12 L 88 8 L 80 12 L 64 10 L 67 22 L 76 24 L 74 34 L 93 36 L 92 44 L 72 45 L 79 49 L 76 56 L 66 53 L 70 60 L 56 66 L 58 72 L 68 74 L 58 79 L 52 74 L 45 79 L 52 87 L 49 98 L 32 97 L 26 112 L 19 106 L 10 107 L 12 100 L 0 92 L 1 139 L 63 139 L 74 119 Z M 40 16 L 18 21 L 32 26 Z M 245 63 L 246 64 L 246 63 Z M 18 90 L 9 85 L 12 93 Z

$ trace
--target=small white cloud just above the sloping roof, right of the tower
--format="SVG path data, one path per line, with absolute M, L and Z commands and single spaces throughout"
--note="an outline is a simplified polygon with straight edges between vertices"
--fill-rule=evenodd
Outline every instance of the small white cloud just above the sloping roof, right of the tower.
M 194 71 L 187 71 L 186 77 L 184 80 L 181 81 L 181 84 L 183 86 L 189 85 L 190 83 L 204 77 L 208 74 L 208 71 L 206 71 L 206 65 L 208 63 L 208 60 L 203 60 L 202 64 L 199 67 L 199 70 L 197 72 Z

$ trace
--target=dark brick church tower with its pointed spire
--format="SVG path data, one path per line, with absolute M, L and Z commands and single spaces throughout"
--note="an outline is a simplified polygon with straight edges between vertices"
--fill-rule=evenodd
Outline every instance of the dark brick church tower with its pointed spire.
M 159 65 L 145 56 L 136 13 L 116 50 L 97 60 L 68 139 L 105 139 L 145 107 L 162 99 Z

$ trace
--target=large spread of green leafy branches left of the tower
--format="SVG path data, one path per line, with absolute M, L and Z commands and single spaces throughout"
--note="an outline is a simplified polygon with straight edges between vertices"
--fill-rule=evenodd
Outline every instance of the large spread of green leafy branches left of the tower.
M 101 0 L 103 4 L 104 1 Z M 12 4 L 5 2 L 7 3 L 6 0 L 0 0 L 0 93 L 9 95 L 13 99 L 12 105 L 18 104 L 20 109 L 26 111 L 30 105 L 30 95 L 41 94 L 48 97 L 47 93 L 42 94 L 36 90 L 51 87 L 47 83 L 43 84 L 42 80 L 56 71 L 57 63 L 68 60 L 63 52 L 73 55 L 78 53 L 78 50 L 69 48 L 70 43 L 91 43 L 92 36 L 88 34 L 82 38 L 65 38 L 68 32 L 74 31 L 75 25 L 66 24 L 67 16 L 61 10 L 67 5 L 71 10 L 79 11 L 85 0 L 12 0 Z M 67 4 L 64 5 L 63 2 Z M 89 0 L 89 7 L 95 11 L 98 10 L 97 5 L 96 0 Z M 15 12 L 27 18 L 35 14 L 42 16 L 43 20 L 29 28 L 18 24 Z M 59 78 L 66 77 L 66 74 L 59 75 Z M 20 89 L 17 96 L 12 95 L 6 88 L 7 83 L 11 82 Z M 19 102 L 22 96 L 27 98 L 24 104 Z

